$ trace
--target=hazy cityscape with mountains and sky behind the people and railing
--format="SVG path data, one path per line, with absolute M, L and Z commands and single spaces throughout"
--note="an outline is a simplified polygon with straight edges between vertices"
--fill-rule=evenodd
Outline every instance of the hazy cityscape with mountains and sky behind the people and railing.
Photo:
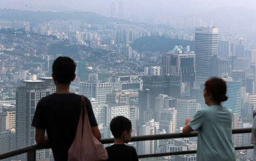
M 202 91 L 209 77 L 226 81 L 222 104 L 233 113 L 232 128 L 252 128 L 255 0 L 1 0 L 0 157 L 36 144 L 31 123 L 38 101 L 56 92 L 59 56 L 75 61 L 69 91 L 90 100 L 102 139 L 113 138 L 109 124 L 117 115 L 132 122 L 132 137 L 181 133 L 187 118 L 208 108 Z M 232 142 L 251 146 L 251 135 L 234 134 Z M 189 151 L 197 137 L 129 145 L 138 155 Z M 54 161 L 51 149 L 35 157 Z M 236 151 L 237 160 L 252 157 L 252 149 Z M 27 155 L 4 161 L 15 158 Z

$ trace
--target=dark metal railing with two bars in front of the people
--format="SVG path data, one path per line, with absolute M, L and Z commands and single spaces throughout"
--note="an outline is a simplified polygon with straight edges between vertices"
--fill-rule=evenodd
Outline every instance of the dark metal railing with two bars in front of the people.
M 238 128 L 233 129 L 233 134 L 242 134 L 242 133 L 251 133 L 252 128 Z M 172 134 L 159 134 L 159 135 L 144 135 L 144 136 L 133 136 L 131 142 L 136 141 L 145 141 L 145 140 L 159 140 L 159 139 L 174 139 L 174 138 L 188 138 L 188 137 L 197 137 L 197 132 L 191 132 L 189 134 L 182 133 L 172 133 Z M 102 144 L 114 143 L 114 138 L 101 139 Z M 13 157 L 15 155 L 27 153 L 27 161 L 35 161 L 36 160 L 36 150 L 40 149 L 49 149 L 50 145 L 32 145 L 27 146 L 21 149 L 13 150 L 4 154 L 0 154 L 0 160 L 6 159 L 8 157 Z M 244 150 L 244 149 L 253 149 L 253 146 L 238 146 L 235 147 L 235 150 Z M 155 154 L 145 154 L 138 155 L 139 158 L 143 157 L 162 157 L 162 156 L 170 156 L 170 155 L 183 155 L 183 154 L 195 154 L 196 150 L 188 150 L 188 151 L 177 151 L 177 152 L 169 152 L 169 153 L 155 153 Z

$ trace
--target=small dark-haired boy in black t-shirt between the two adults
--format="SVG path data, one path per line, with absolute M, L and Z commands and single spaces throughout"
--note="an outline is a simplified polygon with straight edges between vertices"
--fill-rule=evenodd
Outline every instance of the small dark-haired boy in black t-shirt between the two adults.
M 124 144 L 131 140 L 131 121 L 123 116 L 114 117 L 110 122 L 110 130 L 115 140 L 112 146 L 106 147 L 108 161 L 138 161 L 135 148 Z

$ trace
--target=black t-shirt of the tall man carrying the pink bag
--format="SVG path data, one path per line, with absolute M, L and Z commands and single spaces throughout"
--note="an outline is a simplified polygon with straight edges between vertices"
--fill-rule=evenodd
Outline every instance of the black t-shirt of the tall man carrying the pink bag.
M 90 100 L 85 97 L 85 101 L 90 125 L 98 126 Z M 53 93 L 37 104 L 32 126 L 46 129 L 55 161 L 68 161 L 68 149 L 75 139 L 81 106 L 81 95 L 74 93 Z

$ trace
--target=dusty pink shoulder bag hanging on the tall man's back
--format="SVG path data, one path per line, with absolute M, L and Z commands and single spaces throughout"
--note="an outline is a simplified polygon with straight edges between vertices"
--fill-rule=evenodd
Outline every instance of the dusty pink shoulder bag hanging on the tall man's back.
M 83 119 L 84 105 L 84 119 Z M 82 107 L 75 134 L 75 140 L 68 150 L 68 161 L 105 161 L 108 159 L 107 150 L 93 135 L 88 118 L 86 102 L 82 95 Z

